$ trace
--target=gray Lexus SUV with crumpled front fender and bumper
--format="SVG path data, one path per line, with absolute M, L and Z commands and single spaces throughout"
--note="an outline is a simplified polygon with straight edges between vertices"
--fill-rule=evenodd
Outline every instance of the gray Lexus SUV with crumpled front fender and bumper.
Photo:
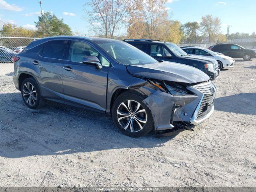
M 29 108 L 52 100 L 106 113 L 132 137 L 191 129 L 213 113 L 216 94 L 197 68 L 105 38 L 33 41 L 14 57 L 13 80 Z

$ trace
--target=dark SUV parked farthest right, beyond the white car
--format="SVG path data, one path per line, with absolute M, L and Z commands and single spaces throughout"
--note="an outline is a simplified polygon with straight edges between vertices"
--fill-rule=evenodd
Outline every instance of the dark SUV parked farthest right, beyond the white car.
M 223 53 L 224 55 L 232 58 L 243 58 L 246 61 L 256 58 L 255 49 L 246 49 L 237 44 L 218 44 L 211 46 L 208 49 L 214 52 Z

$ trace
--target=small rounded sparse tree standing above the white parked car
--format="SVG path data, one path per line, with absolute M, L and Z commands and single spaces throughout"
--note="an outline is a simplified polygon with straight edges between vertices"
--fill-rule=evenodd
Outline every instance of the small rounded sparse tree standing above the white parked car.
M 210 14 L 202 16 L 200 27 L 202 32 L 208 35 L 209 42 L 211 42 L 214 36 L 220 32 L 221 22 L 218 17 L 213 17 L 212 14 Z

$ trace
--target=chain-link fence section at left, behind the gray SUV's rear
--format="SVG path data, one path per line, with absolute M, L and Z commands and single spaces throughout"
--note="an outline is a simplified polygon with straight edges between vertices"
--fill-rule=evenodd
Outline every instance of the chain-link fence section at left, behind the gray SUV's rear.
M 38 38 L 0 36 L 0 62 L 12 62 L 14 55 L 36 39 Z

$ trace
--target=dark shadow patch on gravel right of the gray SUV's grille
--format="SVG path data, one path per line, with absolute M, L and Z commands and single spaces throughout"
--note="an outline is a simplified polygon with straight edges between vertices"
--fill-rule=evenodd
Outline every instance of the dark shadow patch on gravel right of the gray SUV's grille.
M 256 93 L 241 93 L 216 98 L 215 110 L 246 115 L 256 115 Z

